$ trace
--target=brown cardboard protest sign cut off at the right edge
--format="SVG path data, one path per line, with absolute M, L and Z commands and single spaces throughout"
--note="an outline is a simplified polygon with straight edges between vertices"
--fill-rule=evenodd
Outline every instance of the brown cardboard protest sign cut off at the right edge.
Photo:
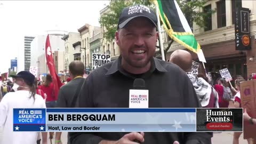
M 241 107 L 252 118 L 256 118 L 256 79 L 240 83 Z M 256 138 L 256 125 L 244 121 L 244 139 Z

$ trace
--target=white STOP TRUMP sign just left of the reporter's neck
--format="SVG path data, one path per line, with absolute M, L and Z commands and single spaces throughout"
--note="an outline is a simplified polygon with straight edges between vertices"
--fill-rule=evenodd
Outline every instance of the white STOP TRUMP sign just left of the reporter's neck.
M 92 69 L 96 69 L 100 66 L 105 65 L 106 63 L 110 62 L 110 55 L 108 54 L 92 54 Z

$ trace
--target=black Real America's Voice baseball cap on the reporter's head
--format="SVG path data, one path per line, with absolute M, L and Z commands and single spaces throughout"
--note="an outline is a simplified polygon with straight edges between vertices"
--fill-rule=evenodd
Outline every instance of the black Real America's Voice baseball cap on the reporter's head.
M 145 5 L 135 4 L 123 9 L 119 17 L 117 29 L 124 28 L 127 23 L 137 17 L 148 18 L 157 28 L 157 17 L 154 9 Z

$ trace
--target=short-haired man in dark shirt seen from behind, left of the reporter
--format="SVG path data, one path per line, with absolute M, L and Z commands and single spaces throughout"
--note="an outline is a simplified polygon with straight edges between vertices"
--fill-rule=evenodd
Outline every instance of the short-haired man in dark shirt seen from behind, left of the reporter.
M 69 74 L 72 81 L 60 87 L 57 108 L 75 107 L 75 103 L 72 102 L 76 102 L 77 96 L 84 82 L 84 69 L 85 67 L 82 61 L 73 61 L 69 64 Z M 55 144 L 61 144 L 61 132 L 56 133 Z

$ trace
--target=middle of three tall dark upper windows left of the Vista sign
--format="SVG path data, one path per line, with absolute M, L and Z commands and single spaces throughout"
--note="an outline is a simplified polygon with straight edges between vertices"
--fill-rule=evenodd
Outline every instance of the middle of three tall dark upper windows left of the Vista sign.
M 218 28 L 226 27 L 226 2 L 223 0 L 217 2 L 217 20 Z

